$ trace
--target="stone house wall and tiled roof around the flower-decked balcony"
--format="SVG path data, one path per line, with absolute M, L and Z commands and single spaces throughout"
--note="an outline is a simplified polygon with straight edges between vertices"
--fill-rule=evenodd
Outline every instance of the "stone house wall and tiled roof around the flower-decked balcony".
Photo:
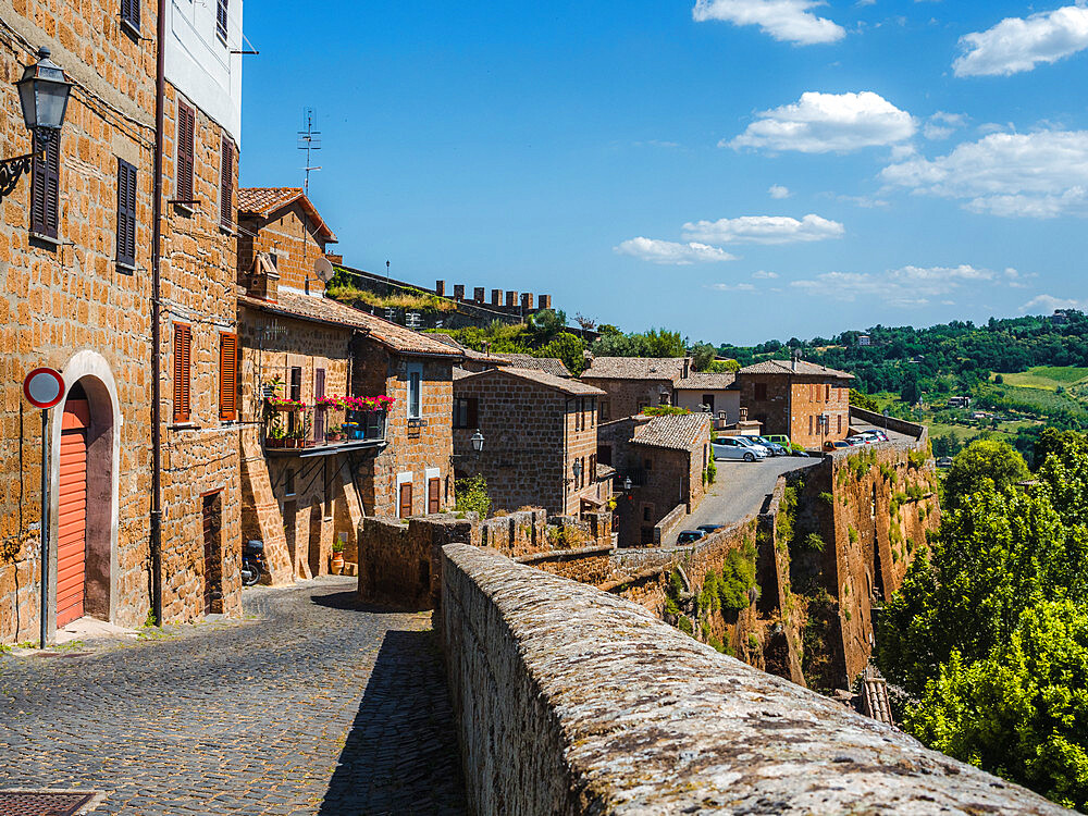
M 351 461 L 344 454 L 299 459 L 267 457 L 262 450 L 262 385 L 279 376 L 290 383 L 290 369 L 301 369 L 301 399 L 312 405 L 316 372 L 325 372 L 325 395 L 350 391 L 353 330 L 283 316 L 279 335 L 264 330 L 270 316 L 239 307 L 243 537 L 264 542 L 273 584 L 329 572 L 332 545 L 345 542 L 344 557 L 354 561 L 357 529 L 362 518 L 353 480 Z M 325 428 L 344 421 L 344 411 L 325 409 Z M 285 420 L 286 421 L 286 420 Z M 358 452 L 351 459 L 367 461 L 373 454 Z

